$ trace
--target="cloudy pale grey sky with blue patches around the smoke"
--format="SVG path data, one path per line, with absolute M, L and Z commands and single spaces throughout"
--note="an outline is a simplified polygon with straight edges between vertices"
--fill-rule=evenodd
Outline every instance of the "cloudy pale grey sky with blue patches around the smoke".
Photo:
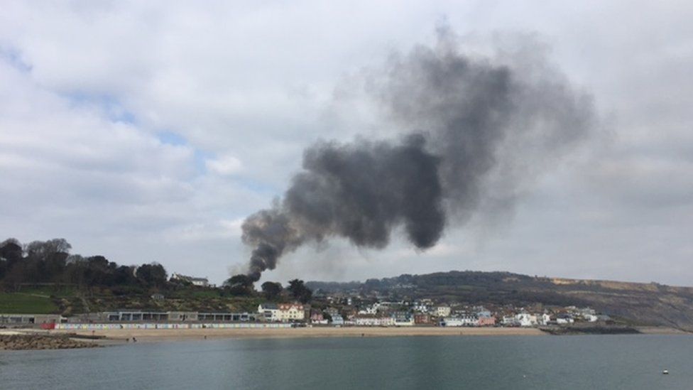
M 687 1 L 3 1 L 0 239 L 63 237 L 119 264 L 221 283 L 318 140 L 386 136 L 359 85 L 396 53 L 531 41 L 594 102 L 581 148 L 502 218 L 415 250 L 307 245 L 263 280 L 477 270 L 691 286 L 693 6 Z M 481 55 L 479 54 L 479 55 Z

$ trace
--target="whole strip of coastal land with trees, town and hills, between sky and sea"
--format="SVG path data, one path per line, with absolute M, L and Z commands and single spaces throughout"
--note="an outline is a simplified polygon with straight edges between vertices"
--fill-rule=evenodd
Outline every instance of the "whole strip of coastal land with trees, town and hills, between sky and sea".
M 70 247 L 65 239 L 0 244 L 0 327 L 690 329 L 693 290 L 657 283 L 465 270 L 349 282 L 237 273 L 217 286 L 204 274 L 117 264 Z

